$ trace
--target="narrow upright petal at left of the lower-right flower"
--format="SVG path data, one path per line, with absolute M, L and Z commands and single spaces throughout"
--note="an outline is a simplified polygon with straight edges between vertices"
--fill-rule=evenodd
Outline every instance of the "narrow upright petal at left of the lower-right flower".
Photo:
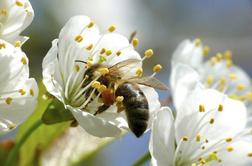
M 163 107 L 154 118 L 149 150 L 154 166 L 172 166 L 175 153 L 173 115 L 168 107 Z

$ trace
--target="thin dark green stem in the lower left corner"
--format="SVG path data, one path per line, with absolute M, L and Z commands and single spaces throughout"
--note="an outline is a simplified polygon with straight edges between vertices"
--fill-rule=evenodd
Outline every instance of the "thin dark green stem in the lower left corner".
M 17 155 L 20 148 L 26 142 L 26 140 L 32 135 L 33 131 L 36 130 L 41 124 L 43 123 L 39 119 L 26 131 L 26 133 L 23 135 L 23 137 L 19 140 L 19 142 L 14 146 L 14 148 L 11 150 L 10 154 L 8 155 L 7 160 L 5 162 L 5 166 L 14 165 L 14 162 L 17 159 Z

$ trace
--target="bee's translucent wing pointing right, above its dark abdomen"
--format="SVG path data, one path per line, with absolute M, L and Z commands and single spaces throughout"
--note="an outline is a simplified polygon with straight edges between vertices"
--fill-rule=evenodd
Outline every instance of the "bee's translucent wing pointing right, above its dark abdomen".
M 159 89 L 159 90 L 168 90 L 168 87 L 164 83 L 162 83 L 161 81 L 156 79 L 155 77 L 131 78 L 127 81 L 132 82 L 132 83 L 145 85 L 145 86 L 149 86 L 149 87 L 153 87 L 153 88 Z

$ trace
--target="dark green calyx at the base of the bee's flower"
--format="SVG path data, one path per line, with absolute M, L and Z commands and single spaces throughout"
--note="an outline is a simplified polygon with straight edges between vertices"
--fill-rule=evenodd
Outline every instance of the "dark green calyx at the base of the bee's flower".
M 70 120 L 74 120 L 72 113 L 69 110 L 65 109 L 64 105 L 56 99 L 54 99 L 49 104 L 47 110 L 42 116 L 43 123 L 48 125 L 66 122 Z

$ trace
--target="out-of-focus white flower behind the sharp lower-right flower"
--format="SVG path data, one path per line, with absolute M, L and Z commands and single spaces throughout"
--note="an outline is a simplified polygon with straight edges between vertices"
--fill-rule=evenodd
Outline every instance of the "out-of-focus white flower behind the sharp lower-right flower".
M 208 60 L 204 60 L 207 58 L 208 52 L 209 48 L 203 46 L 199 39 L 195 41 L 184 40 L 175 50 L 172 57 L 170 78 L 173 96 L 180 96 L 176 97 L 179 101 L 174 101 L 175 104 L 183 102 L 181 96 L 186 97 L 186 93 L 190 91 L 190 88 L 186 88 L 189 90 L 188 92 L 179 91 L 175 94 L 175 89 L 179 89 L 176 87 L 181 84 L 189 86 L 190 82 L 198 79 L 205 87 L 217 89 L 234 99 L 241 100 L 246 104 L 248 110 L 252 110 L 252 89 L 249 75 L 239 66 L 233 64 L 230 51 L 225 51 L 223 54 L 217 53 Z M 181 67 L 182 64 L 188 67 Z M 192 70 L 195 70 L 198 75 Z M 184 78 L 187 73 L 191 73 L 192 76 Z M 180 85 L 177 85 L 178 82 Z

